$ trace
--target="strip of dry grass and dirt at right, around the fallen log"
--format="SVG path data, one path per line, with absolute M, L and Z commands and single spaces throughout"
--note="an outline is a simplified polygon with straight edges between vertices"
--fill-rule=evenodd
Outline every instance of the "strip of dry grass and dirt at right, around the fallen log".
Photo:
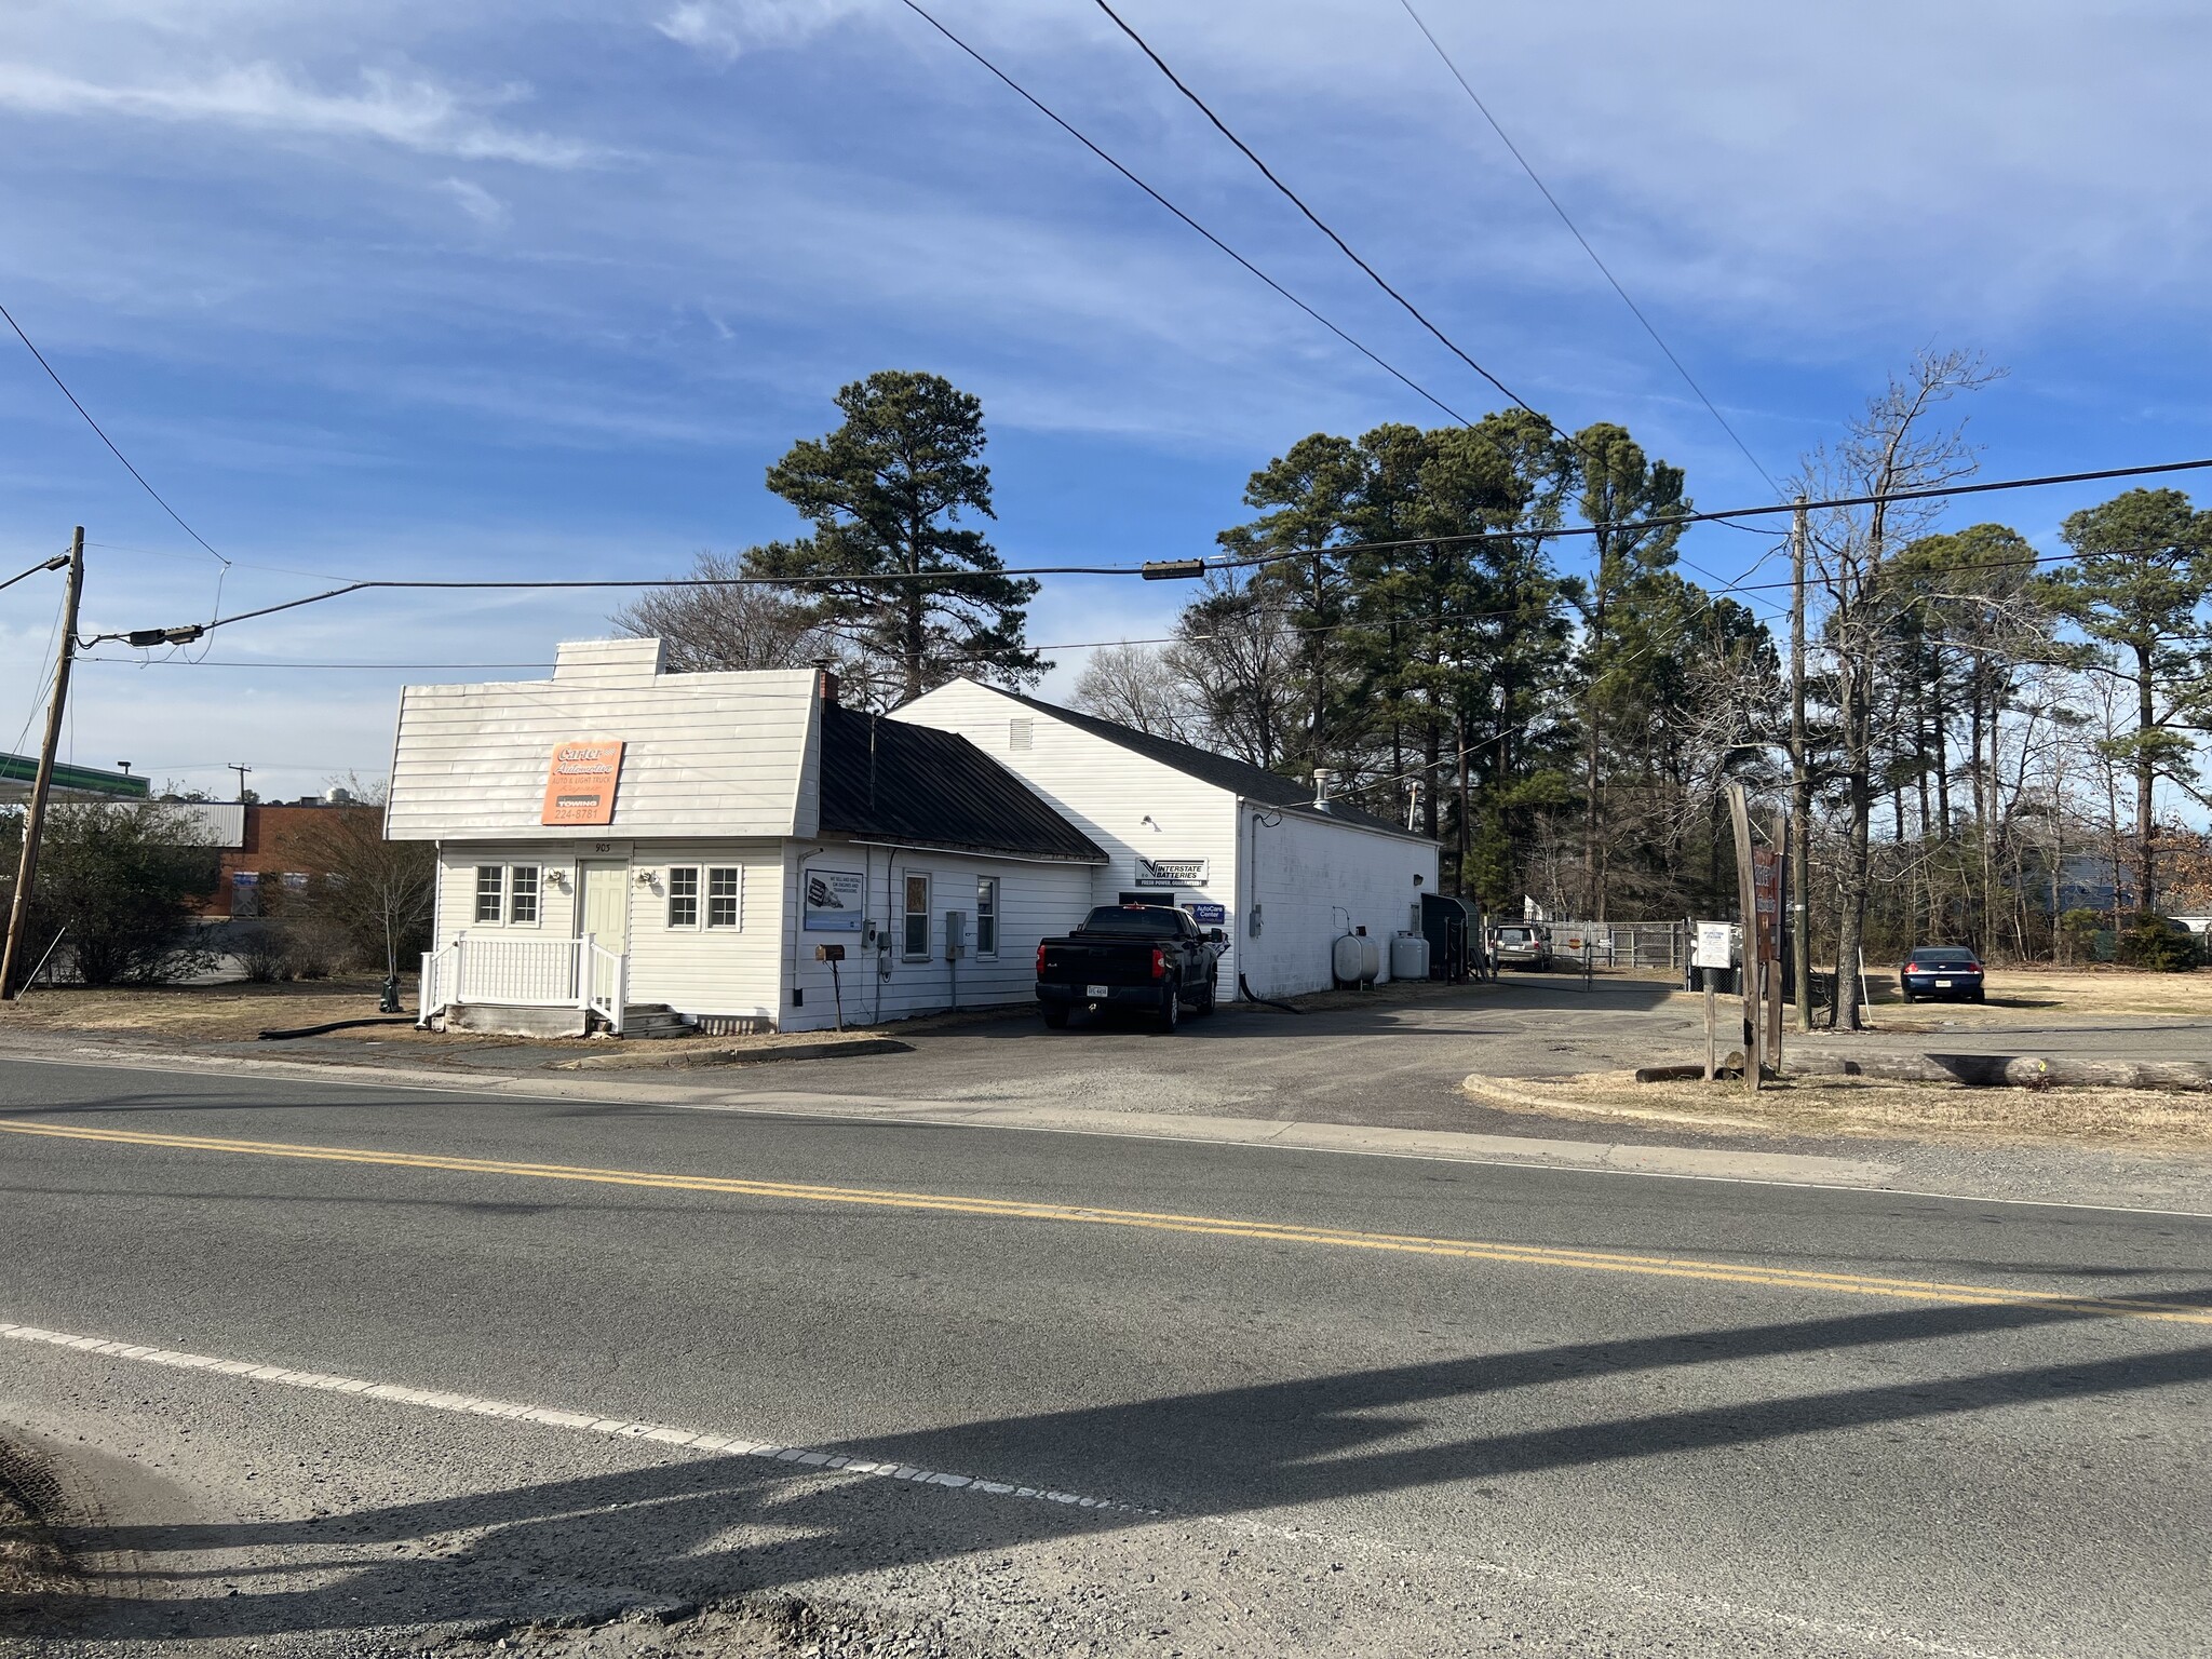
M 1964 1088 L 1876 1077 L 1639 1084 L 1635 1073 L 1469 1077 L 1484 1106 L 1551 1117 L 1681 1124 L 1719 1135 L 1878 1135 L 2212 1152 L 2212 1102 L 2150 1088 Z

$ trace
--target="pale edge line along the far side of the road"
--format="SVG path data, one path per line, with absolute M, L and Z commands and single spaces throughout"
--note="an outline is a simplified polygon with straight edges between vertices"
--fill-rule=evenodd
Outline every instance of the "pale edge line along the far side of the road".
M 20 1060 L 20 1062 L 24 1062 L 29 1066 L 82 1066 L 82 1068 L 88 1068 L 88 1071 L 108 1068 L 108 1071 L 157 1071 L 157 1073 L 201 1075 L 197 1068 L 177 1064 L 175 1060 L 168 1060 L 166 1055 L 164 1057 L 139 1060 L 137 1055 L 113 1055 L 113 1057 L 111 1055 L 73 1055 L 71 1057 L 71 1055 L 27 1055 L 27 1053 L 13 1053 L 13 1051 L 9 1051 L 7 1057 L 9 1060 Z M 1909 1186 L 1854 1186 L 1849 1181 L 1781 1181 L 1781 1179 L 1774 1179 L 1774 1177 L 1759 1177 L 1759 1175 L 1686 1175 L 1681 1170 L 1617 1170 L 1617 1168 L 1606 1168 L 1606 1166 L 1599 1166 L 1599 1164 L 1546 1164 L 1544 1159 L 1533 1157 L 1533 1155 L 1520 1159 L 1520 1157 L 1460 1157 L 1460 1155 L 1453 1155 L 1453 1152 L 1391 1152 L 1391 1150 L 1374 1148 L 1374 1146 L 1283 1146 L 1281 1141 L 1272 1141 L 1272 1139 L 1270 1141 L 1252 1141 L 1252 1139 L 1223 1139 L 1223 1137 L 1212 1137 L 1212 1135 L 1206 1135 L 1206 1137 L 1199 1137 L 1199 1135 L 1150 1135 L 1150 1133 L 1144 1133 L 1144 1130 L 1135 1130 L 1135 1128 L 1104 1128 L 1104 1126 L 1068 1128 L 1068 1126 L 1057 1126 L 1057 1124 L 991 1124 L 991 1121 L 973 1121 L 973 1119 L 962 1119 L 958 1124 L 949 1124 L 942 1117 L 898 1117 L 898 1115 L 889 1115 L 889 1113 L 876 1113 L 876 1115 L 872 1115 L 872 1113 L 854 1113 L 854 1110 L 816 1113 L 816 1110 L 801 1110 L 801 1108 L 792 1108 L 792 1106 L 754 1106 L 754 1104 L 748 1104 L 743 1099 L 721 1104 L 721 1102 L 697 1102 L 697 1099 L 637 1099 L 637 1102 L 624 1102 L 619 1097 L 608 1097 L 608 1095 L 533 1095 L 533 1093 L 529 1093 L 524 1088 L 502 1088 L 502 1086 L 498 1086 L 502 1082 L 502 1077 L 487 1077 L 482 1082 L 478 1082 L 478 1079 L 456 1079 L 451 1084 L 447 1084 L 442 1079 L 372 1082 L 372 1079 L 356 1079 L 356 1077 L 323 1077 L 321 1073 L 325 1073 L 325 1071 L 338 1071 L 338 1066 L 316 1066 L 310 1060 L 237 1060 L 234 1055 L 197 1055 L 197 1060 L 204 1060 L 206 1064 L 212 1064 L 212 1066 L 221 1068 L 223 1073 L 239 1075 L 239 1077 L 257 1077 L 261 1082 L 310 1082 L 310 1079 L 303 1079 L 303 1077 L 292 1077 L 288 1073 L 272 1071 L 274 1066 L 292 1066 L 292 1068 L 312 1073 L 312 1082 L 327 1082 L 332 1088 L 378 1088 L 378 1091 L 383 1091 L 387 1095 L 473 1095 L 473 1097 L 484 1099 L 484 1102 L 493 1102 L 493 1099 L 535 1099 L 535 1102 L 546 1102 L 546 1104 L 551 1104 L 551 1102 L 573 1104 L 577 1099 L 597 1099 L 597 1102 L 608 1104 L 608 1106 L 624 1106 L 624 1104 L 637 1106 L 639 1110 L 664 1108 L 664 1110 L 679 1110 L 679 1113 L 743 1113 L 743 1115 L 750 1115 L 750 1117 L 787 1117 L 787 1119 L 812 1121 L 812 1124 L 902 1124 L 907 1128 L 993 1130 L 993 1133 L 1000 1133 L 1000 1135 L 1009 1133 L 1009 1130 L 1024 1133 L 1024 1135 L 1091 1135 L 1091 1137 L 1102 1139 L 1102 1141 L 1161 1141 L 1161 1144 L 1170 1144 L 1170 1146 L 1241 1146 L 1241 1148 L 1250 1148 L 1250 1150 L 1259 1150 L 1259 1152 L 1290 1152 L 1290 1155 L 1307 1155 L 1307 1157 L 1394 1157 L 1394 1159 L 1405 1159 L 1405 1161 L 1411 1161 L 1411 1164 L 1462 1164 L 1462 1166 L 1469 1166 L 1469 1168 L 1486 1168 L 1486 1170 L 1542 1170 L 1546 1175 L 1604 1175 L 1604 1177 L 1613 1177 L 1613 1179 L 1621 1179 L 1621 1181 L 1708 1181 L 1708 1183 L 1714 1183 L 1714 1186 L 1767 1186 L 1767 1188 L 1787 1188 L 1787 1190 L 1801 1190 L 1801 1192 L 1858 1192 L 1858 1194 L 1871 1194 L 1871 1197 L 1878 1197 L 1878 1199 L 1936 1199 L 1938 1203 L 2002 1203 L 2002 1206 L 2011 1206 L 2011 1208 L 2020 1208 L 2020 1210 L 2090 1210 L 2090 1212 L 2097 1212 L 2097 1214 L 2148 1214 L 2148 1217 L 2172 1217 L 2172 1219 L 2181 1219 L 2181 1221 L 2212 1221 L 2212 1210 L 2159 1210 L 2159 1208 L 2150 1208 L 2150 1206 L 2143 1206 L 2143 1203 L 2081 1203 L 2077 1199 L 2000 1199 L 2000 1197 L 1984 1197 L 1984 1194 L 1975 1194 L 1975 1192 L 1931 1192 L 1927 1188 L 1909 1188 Z M 270 1068 L 270 1071 L 263 1071 L 263 1068 Z M 416 1077 L 416 1073 L 407 1073 L 407 1077 Z M 511 1082 L 520 1084 L 520 1082 L 533 1082 L 533 1079 L 515 1077 Z M 487 1086 L 487 1084 L 493 1084 L 493 1086 Z M 958 1104 L 958 1102 L 945 1102 L 945 1104 L 951 1106 L 951 1104 Z M 66 1108 L 62 1108 L 62 1110 L 66 1110 Z M 7 1117 L 7 1108 L 0 1108 L 0 1117 Z M 1285 1128 L 1296 1128 L 1296 1124 L 1294 1121 L 1285 1124 Z M 1358 1128 L 1358 1126 L 1354 1126 L 1354 1128 Z M 1628 1141 L 1608 1141 L 1608 1144 L 1632 1146 Z M 1597 1146 L 1597 1141 L 1593 1141 L 1593 1146 Z M 1657 1146 L 1652 1150 L 1683 1150 L 1683 1148 Z M 1688 1150 L 1697 1150 L 1697 1148 L 1688 1148 Z

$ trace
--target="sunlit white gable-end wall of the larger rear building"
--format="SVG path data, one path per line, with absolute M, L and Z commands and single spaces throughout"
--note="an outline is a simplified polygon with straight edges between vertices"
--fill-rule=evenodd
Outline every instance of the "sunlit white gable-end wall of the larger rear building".
M 1230 949 L 1221 987 L 1237 993 L 1237 796 L 1172 765 L 1053 719 L 1004 692 L 956 679 L 900 708 L 891 719 L 960 732 L 1044 796 L 1060 816 L 1108 854 L 1093 865 L 1091 902 L 1113 905 L 1137 889 L 1137 858 L 1203 858 L 1206 885 L 1177 887 L 1177 902 L 1228 909 Z

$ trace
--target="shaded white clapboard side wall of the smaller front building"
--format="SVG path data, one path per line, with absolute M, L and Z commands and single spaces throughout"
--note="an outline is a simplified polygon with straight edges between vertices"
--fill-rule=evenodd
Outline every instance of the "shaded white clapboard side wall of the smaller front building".
M 867 920 L 889 940 L 889 958 L 863 949 L 863 933 L 810 933 L 799 889 L 805 869 L 860 872 L 867 880 Z M 929 958 L 905 958 L 905 876 L 929 876 Z M 1091 865 L 1029 863 L 971 854 L 909 852 L 872 845 L 794 845 L 787 867 L 790 987 L 785 1031 L 825 1031 L 836 1024 L 836 984 L 816 945 L 843 945 L 845 1024 L 880 1024 L 947 1009 L 1029 1006 L 1035 1002 L 1037 940 L 1066 933 L 1091 909 Z M 998 878 L 998 953 L 973 956 L 975 883 Z M 945 914 L 967 914 L 969 956 L 945 960 Z M 880 962 L 887 960 L 889 973 Z M 801 995 L 790 995 L 796 991 Z

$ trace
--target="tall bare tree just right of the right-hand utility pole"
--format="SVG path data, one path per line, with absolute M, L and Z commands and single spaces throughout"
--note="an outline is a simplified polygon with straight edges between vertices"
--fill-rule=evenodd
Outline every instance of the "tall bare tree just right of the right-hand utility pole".
M 1871 821 L 1876 757 L 1882 748 L 1882 659 L 1896 633 L 1896 582 L 1885 582 L 1893 549 L 1924 535 L 1940 500 L 1891 500 L 1907 491 L 1940 489 L 1973 473 L 1964 422 L 1938 425 L 1936 411 L 1960 392 L 1989 385 L 1997 372 L 1973 352 L 1922 352 L 1893 376 L 1836 449 L 1818 451 L 1805 467 L 1803 489 L 1814 498 L 1871 495 L 1871 507 L 1834 507 L 1814 524 L 1814 564 L 1827 602 L 1823 646 L 1834 664 L 1836 737 L 1843 750 L 1838 781 L 1845 790 L 1845 834 L 1836 865 L 1836 1024 L 1863 1024 L 1858 953 L 1867 929 L 1871 887 Z

